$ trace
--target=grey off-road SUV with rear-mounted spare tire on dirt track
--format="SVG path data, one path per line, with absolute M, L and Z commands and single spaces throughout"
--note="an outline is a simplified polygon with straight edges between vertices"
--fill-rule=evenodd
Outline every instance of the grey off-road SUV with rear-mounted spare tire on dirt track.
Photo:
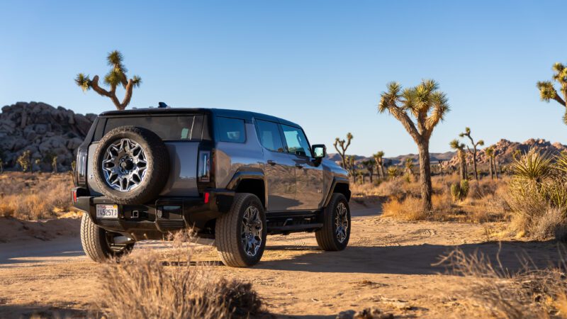
M 314 232 L 343 250 L 347 172 L 301 126 L 247 111 L 147 108 L 102 113 L 77 152 L 73 203 L 91 259 L 191 228 L 224 264 L 257 264 L 266 235 Z

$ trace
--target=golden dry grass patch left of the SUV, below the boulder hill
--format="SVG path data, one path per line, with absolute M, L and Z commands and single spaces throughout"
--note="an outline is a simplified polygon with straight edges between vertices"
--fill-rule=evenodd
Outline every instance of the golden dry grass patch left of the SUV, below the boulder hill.
M 23 220 L 54 218 L 71 208 L 69 174 L 0 174 L 0 216 Z

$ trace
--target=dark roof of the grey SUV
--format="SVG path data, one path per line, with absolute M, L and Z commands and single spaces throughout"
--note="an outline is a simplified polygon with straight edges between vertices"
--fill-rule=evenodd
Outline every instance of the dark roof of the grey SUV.
M 252 118 L 259 118 L 268 121 L 274 121 L 281 124 L 296 126 L 301 128 L 300 125 L 287 121 L 283 118 L 277 118 L 276 116 L 269 116 L 263 113 L 251 112 L 251 111 L 240 111 L 240 110 L 229 110 L 226 108 L 131 108 L 124 111 L 106 111 L 100 114 L 102 117 L 113 117 L 113 116 L 154 116 L 154 115 L 176 115 L 176 114 L 194 114 L 194 113 L 212 113 L 216 116 L 226 116 L 226 117 L 237 117 L 244 118 L 245 120 L 252 121 Z

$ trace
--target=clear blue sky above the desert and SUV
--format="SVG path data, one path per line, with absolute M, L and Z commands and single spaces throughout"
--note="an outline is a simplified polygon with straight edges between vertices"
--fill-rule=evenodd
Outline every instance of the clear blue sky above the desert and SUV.
M 465 126 L 476 138 L 566 143 L 563 109 L 538 80 L 567 62 L 565 1 L 3 1 L 0 106 L 44 101 L 78 113 L 113 104 L 84 94 L 78 72 L 106 73 L 107 52 L 139 74 L 130 106 L 239 108 L 303 125 L 332 150 L 417 152 L 378 114 L 390 81 L 436 79 L 451 113 L 432 152 Z M 120 92 L 121 93 L 121 92 Z

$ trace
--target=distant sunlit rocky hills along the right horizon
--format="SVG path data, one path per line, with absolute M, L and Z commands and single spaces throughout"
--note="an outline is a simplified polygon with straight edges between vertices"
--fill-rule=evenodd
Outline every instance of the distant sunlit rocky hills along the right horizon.
M 510 142 L 509 140 L 502 139 L 488 147 L 494 148 L 496 162 L 500 165 L 510 164 L 514 160 L 514 153 L 517 151 L 520 151 L 520 154 L 524 154 L 534 149 L 541 154 L 547 153 L 549 155 L 558 155 L 561 152 L 567 151 L 566 145 L 562 145 L 559 142 L 551 143 L 541 138 L 530 138 L 525 142 Z M 478 164 L 488 163 L 488 156 L 486 156 L 486 149 L 488 147 L 478 151 L 476 155 Z M 467 152 L 467 162 L 472 162 L 472 160 L 472 155 Z M 449 161 L 444 162 L 443 165 L 444 167 L 457 167 L 459 165 L 459 159 L 454 156 L 449 159 Z

